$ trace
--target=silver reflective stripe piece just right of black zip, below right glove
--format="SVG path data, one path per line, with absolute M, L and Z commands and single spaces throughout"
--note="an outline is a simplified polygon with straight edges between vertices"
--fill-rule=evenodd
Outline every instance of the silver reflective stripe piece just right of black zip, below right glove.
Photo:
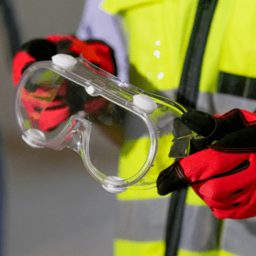
M 186 205 L 179 248 L 204 252 L 217 248 L 218 219 L 209 207 Z

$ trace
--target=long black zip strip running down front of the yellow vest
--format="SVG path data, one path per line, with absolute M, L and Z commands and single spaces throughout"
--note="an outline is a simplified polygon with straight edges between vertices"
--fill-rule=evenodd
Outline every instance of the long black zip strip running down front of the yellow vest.
M 188 108 L 196 107 L 201 63 L 217 2 L 218 0 L 199 0 L 196 10 L 195 23 L 177 92 L 177 102 Z M 187 189 L 172 192 L 166 223 L 166 256 L 177 256 L 186 195 Z

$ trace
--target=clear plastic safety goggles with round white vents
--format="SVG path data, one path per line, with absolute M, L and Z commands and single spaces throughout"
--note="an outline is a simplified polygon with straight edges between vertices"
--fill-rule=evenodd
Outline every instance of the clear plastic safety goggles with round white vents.
M 60 101 L 61 111 L 67 112 L 52 127 Z M 180 122 L 185 111 L 81 56 L 55 55 L 32 64 L 15 94 L 25 142 L 34 148 L 72 148 L 90 175 L 113 193 L 155 187 L 165 165 L 189 154 L 189 139 L 195 135 Z

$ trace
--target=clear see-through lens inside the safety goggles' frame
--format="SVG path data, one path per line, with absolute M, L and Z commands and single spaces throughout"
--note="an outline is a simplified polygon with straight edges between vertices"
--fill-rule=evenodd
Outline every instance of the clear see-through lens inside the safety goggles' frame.
M 40 69 L 35 72 L 20 90 L 20 101 L 20 117 L 24 127 L 27 131 L 41 131 L 41 138 L 46 142 L 58 140 L 63 130 L 67 132 L 73 115 L 89 121 L 90 131 L 84 129 L 85 133 L 90 132 L 88 138 L 82 135 L 78 121 L 71 122 L 70 135 L 66 137 L 70 143 L 66 143 L 80 153 L 81 148 L 77 148 L 77 144 L 88 139 L 89 148 L 86 150 L 89 152 L 91 165 L 106 176 L 118 175 L 121 155 L 127 159 L 121 161 L 122 165 L 130 166 L 128 156 L 134 144 L 149 137 L 146 123 L 135 113 L 102 96 L 90 96 L 84 87 L 51 70 Z M 57 120 L 61 120 L 58 125 Z M 130 127 L 133 128 L 127 129 Z M 73 137 L 76 142 L 73 142 Z M 148 157 L 149 144 L 145 143 L 142 149 L 144 154 L 137 156 L 136 168 L 132 167 L 128 173 L 119 174 L 119 177 L 132 177 L 143 167 Z

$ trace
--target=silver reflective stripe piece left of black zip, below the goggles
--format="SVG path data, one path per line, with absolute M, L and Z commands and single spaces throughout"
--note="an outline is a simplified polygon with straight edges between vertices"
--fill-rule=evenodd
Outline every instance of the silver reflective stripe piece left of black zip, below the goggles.
M 116 237 L 131 241 L 163 241 L 169 198 L 119 201 Z

